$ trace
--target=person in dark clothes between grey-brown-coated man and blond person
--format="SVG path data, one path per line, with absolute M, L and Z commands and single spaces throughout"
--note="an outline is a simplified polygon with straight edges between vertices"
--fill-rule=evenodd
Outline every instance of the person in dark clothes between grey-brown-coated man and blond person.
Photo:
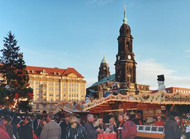
M 65 114 L 65 116 L 62 118 L 62 121 L 60 122 L 61 127 L 61 139 L 66 139 L 66 129 L 69 127 L 69 114 Z

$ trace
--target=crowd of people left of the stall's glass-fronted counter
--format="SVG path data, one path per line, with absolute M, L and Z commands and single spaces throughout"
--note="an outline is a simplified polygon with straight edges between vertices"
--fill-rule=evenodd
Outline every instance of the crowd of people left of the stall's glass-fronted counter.
M 118 139 L 127 136 L 133 139 L 137 128 L 129 114 L 119 114 L 117 120 L 111 117 L 107 124 L 92 114 L 84 122 L 70 114 L 57 119 L 53 113 L 36 117 L 3 116 L 0 122 L 1 139 L 97 139 L 101 133 L 117 133 Z

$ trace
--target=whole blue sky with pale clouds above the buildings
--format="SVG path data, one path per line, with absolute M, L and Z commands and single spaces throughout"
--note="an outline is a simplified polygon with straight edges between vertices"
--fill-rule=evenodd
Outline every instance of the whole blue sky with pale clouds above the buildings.
M 115 73 L 125 4 L 137 83 L 190 88 L 189 0 L 0 0 L 0 49 L 11 31 L 27 65 L 73 67 L 88 87 L 104 55 Z

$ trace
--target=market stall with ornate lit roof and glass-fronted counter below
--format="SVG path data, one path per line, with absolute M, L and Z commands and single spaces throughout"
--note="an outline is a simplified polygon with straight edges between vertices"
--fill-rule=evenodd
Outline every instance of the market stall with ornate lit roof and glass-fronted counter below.
M 88 110 L 90 113 L 99 114 L 104 117 L 108 112 L 126 112 L 126 111 L 142 111 L 143 118 L 165 116 L 167 106 L 188 106 L 190 104 L 190 97 L 184 93 L 167 93 L 158 91 L 156 93 L 142 93 L 138 95 L 113 95 L 102 97 L 97 100 L 90 101 L 84 104 L 84 111 Z M 154 121 L 152 121 L 154 122 Z M 188 128 L 187 128 L 188 129 Z M 139 137 L 146 138 L 164 138 L 164 127 L 150 125 L 137 126 Z

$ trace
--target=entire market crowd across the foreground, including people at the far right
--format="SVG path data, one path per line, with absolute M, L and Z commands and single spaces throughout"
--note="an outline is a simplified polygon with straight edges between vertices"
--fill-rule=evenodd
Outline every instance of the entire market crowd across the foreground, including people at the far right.
M 108 117 L 107 117 L 108 118 Z M 53 113 L 31 116 L 2 116 L 0 120 L 1 139 L 97 139 L 98 134 L 116 134 L 117 139 L 135 139 L 137 126 L 144 123 L 139 114 L 118 113 L 109 116 L 108 122 L 95 115 L 88 114 L 86 119 L 65 113 L 55 116 Z M 166 139 L 187 138 L 186 120 L 171 113 L 168 118 L 157 117 L 152 123 L 164 126 Z

